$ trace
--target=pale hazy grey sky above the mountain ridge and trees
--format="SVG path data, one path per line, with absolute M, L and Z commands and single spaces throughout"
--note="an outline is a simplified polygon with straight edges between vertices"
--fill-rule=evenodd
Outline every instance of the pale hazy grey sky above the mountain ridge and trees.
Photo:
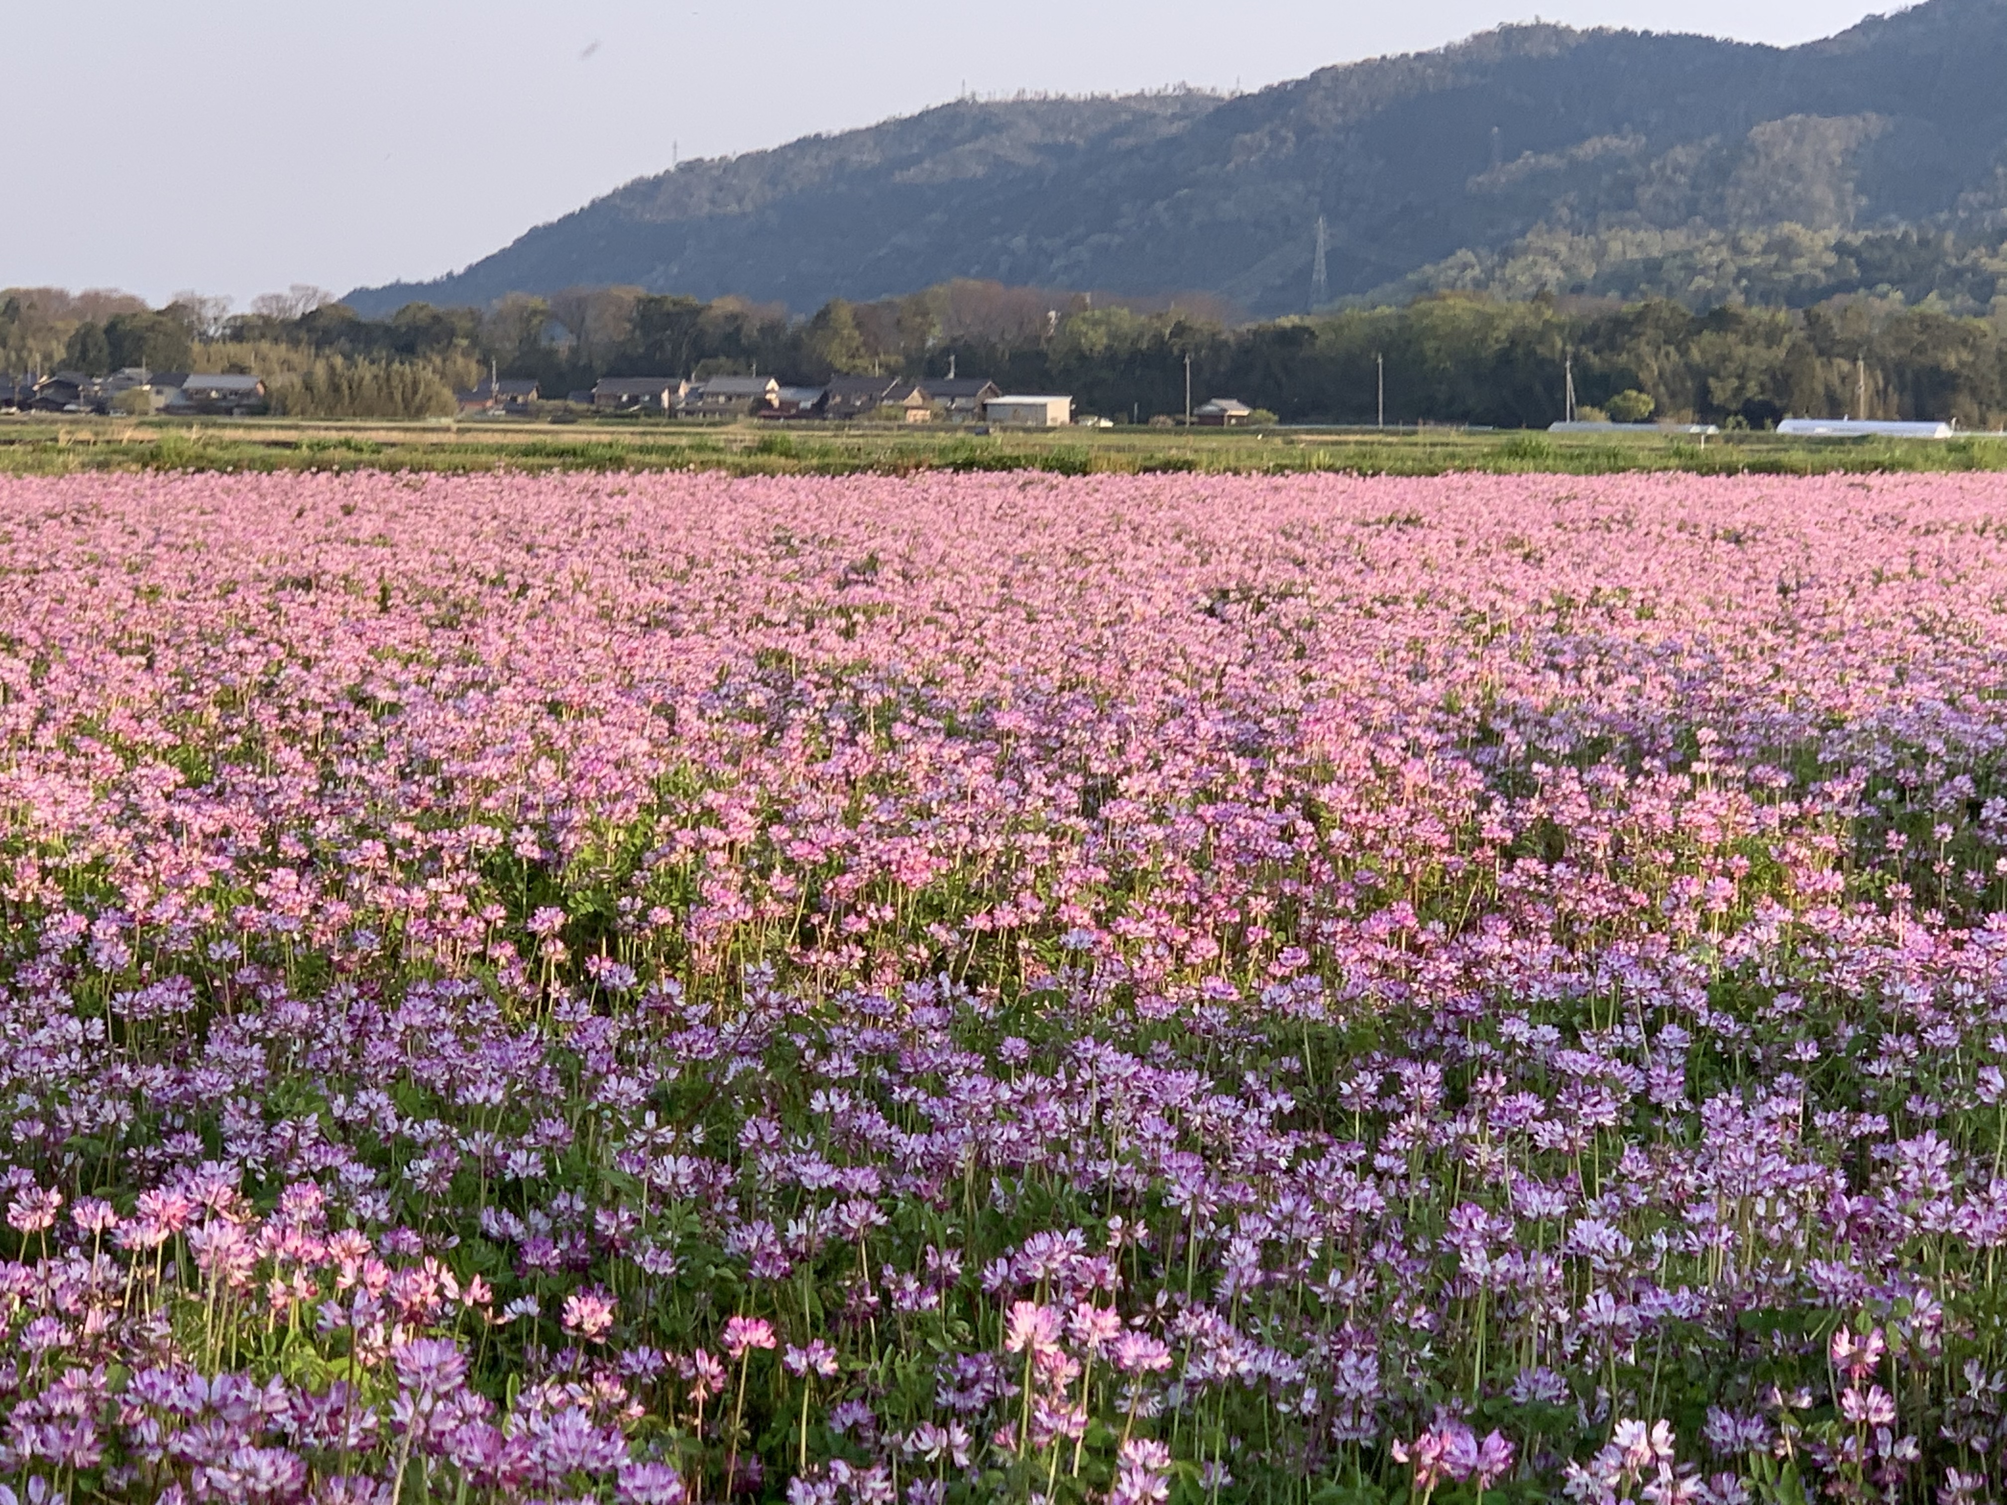
M 1547 20 L 1802 42 L 1858 0 L 1535 0 Z M 0 0 L 0 287 L 249 301 L 434 277 L 672 150 L 710 157 L 953 98 L 1256 88 L 1441 46 L 1521 0 L 530 4 Z M 16 16 L 6 12 L 16 10 Z

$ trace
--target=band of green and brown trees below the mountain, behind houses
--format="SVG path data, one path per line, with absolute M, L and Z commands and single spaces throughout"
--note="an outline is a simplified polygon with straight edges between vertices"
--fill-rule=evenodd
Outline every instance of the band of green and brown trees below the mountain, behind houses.
M 490 309 L 413 303 L 363 319 L 319 299 L 217 317 L 177 301 L 0 293 L 0 367 L 84 371 L 255 369 L 299 415 L 419 417 L 490 369 L 534 377 L 546 397 L 600 375 L 983 375 L 1014 391 L 1072 393 L 1080 411 L 1148 421 L 1230 395 L 1284 421 L 1441 421 L 1541 427 L 1580 403 L 1764 427 L 1854 413 L 2007 419 L 2007 307 L 1957 315 L 1901 297 L 1806 309 L 1672 299 L 1499 299 L 1431 293 L 1401 307 L 1236 323 L 1206 299 L 1094 299 L 995 283 L 945 283 L 811 317 L 745 299 L 638 289 L 512 295 Z

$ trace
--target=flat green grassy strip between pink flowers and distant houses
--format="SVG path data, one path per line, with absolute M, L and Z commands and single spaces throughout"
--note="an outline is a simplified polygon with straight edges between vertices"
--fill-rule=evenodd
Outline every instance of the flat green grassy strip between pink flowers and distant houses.
M 1780 439 L 1423 429 L 953 429 L 684 425 L 634 421 L 299 421 L 0 417 L 0 476 L 132 470 L 917 470 L 1307 472 L 1433 476 L 1453 470 L 1822 474 L 2007 470 L 2007 439 Z

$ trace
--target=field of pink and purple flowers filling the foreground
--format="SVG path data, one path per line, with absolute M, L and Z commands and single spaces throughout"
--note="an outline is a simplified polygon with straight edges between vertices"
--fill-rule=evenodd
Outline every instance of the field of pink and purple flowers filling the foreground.
M 2007 1491 L 1997 478 L 0 482 L 0 1505 Z

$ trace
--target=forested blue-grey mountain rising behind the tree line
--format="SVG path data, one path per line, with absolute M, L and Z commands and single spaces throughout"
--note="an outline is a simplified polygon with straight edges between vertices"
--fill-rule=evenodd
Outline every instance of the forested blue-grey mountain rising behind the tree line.
M 1539 235 L 2007 227 L 2007 0 L 1792 48 L 1505 26 L 1222 98 L 957 100 L 692 161 L 405 301 L 630 283 L 809 311 L 953 277 L 1301 311 Z M 1682 241 L 1684 243 L 1684 241 Z

